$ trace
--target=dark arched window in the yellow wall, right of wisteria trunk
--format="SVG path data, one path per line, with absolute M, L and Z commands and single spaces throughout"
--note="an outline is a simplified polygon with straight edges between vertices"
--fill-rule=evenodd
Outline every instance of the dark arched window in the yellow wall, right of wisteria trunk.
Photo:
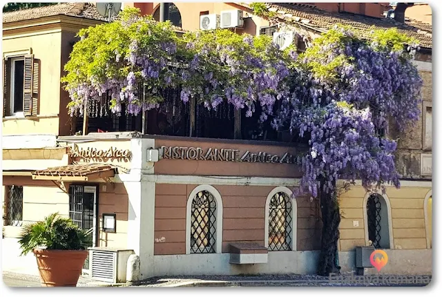
M 390 202 L 381 194 L 365 198 L 365 237 L 376 249 L 392 249 Z

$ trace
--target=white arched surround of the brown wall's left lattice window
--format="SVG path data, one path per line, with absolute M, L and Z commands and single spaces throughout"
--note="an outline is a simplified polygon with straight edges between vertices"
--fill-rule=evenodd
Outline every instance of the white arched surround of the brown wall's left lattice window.
M 191 218 L 192 218 L 192 201 L 196 194 L 200 191 L 209 191 L 216 202 L 216 229 L 215 229 L 215 253 L 222 253 L 222 198 L 220 192 L 209 184 L 200 184 L 191 191 L 187 198 L 186 205 L 186 255 L 191 253 Z

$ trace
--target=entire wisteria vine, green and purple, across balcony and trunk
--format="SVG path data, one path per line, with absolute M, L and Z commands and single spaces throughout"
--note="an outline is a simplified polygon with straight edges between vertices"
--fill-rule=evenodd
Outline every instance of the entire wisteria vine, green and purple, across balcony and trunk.
M 361 39 L 336 27 L 298 56 L 293 46 L 280 50 L 269 37 L 229 30 L 177 37 L 169 22 L 134 8 L 119 19 L 79 32 L 63 78 L 71 115 L 103 102 L 103 94 L 113 113 L 137 115 L 162 104 L 160 90 L 179 86 L 182 102 L 208 109 L 227 101 L 250 117 L 260 104 L 261 122 L 274 115 L 273 128 L 306 140 L 301 192 L 333 192 L 340 179 L 361 179 L 366 189 L 399 186 L 396 142 L 378 131 L 392 124 L 403 130 L 419 118 L 412 39 L 393 29 Z

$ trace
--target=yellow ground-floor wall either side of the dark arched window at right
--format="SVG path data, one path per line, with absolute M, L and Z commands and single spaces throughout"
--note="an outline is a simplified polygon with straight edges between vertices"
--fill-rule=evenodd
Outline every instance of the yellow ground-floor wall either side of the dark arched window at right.
M 431 188 L 388 187 L 390 200 L 394 249 L 426 249 L 424 199 Z M 365 221 L 363 200 L 365 189 L 353 186 L 340 195 L 340 251 L 352 251 L 356 246 L 365 246 Z M 358 222 L 358 227 L 354 226 Z

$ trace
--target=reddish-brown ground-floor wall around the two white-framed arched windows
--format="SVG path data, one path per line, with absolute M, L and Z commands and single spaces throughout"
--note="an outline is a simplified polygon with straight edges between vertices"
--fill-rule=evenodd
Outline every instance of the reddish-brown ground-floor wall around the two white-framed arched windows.
M 196 184 L 156 184 L 155 255 L 186 253 L 186 203 Z M 215 185 L 223 204 L 222 252 L 231 242 L 265 244 L 265 202 L 273 186 Z M 320 219 L 316 200 L 297 198 L 297 250 L 319 248 Z

